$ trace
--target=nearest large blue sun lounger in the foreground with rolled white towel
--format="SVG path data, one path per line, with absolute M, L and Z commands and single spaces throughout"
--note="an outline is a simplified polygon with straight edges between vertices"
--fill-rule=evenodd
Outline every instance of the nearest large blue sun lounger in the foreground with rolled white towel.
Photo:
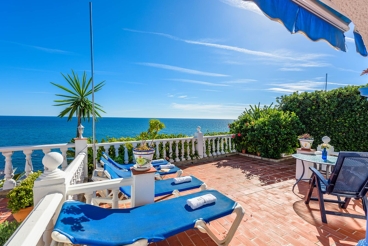
M 216 202 L 191 209 L 187 199 L 212 194 Z M 236 213 L 226 237 L 218 239 L 206 223 Z M 170 216 L 168 216 L 168 214 Z M 128 209 L 105 209 L 78 201 L 64 202 L 52 238 L 57 242 L 87 245 L 147 245 L 193 227 L 217 243 L 228 245 L 244 216 L 243 208 L 215 190 Z

